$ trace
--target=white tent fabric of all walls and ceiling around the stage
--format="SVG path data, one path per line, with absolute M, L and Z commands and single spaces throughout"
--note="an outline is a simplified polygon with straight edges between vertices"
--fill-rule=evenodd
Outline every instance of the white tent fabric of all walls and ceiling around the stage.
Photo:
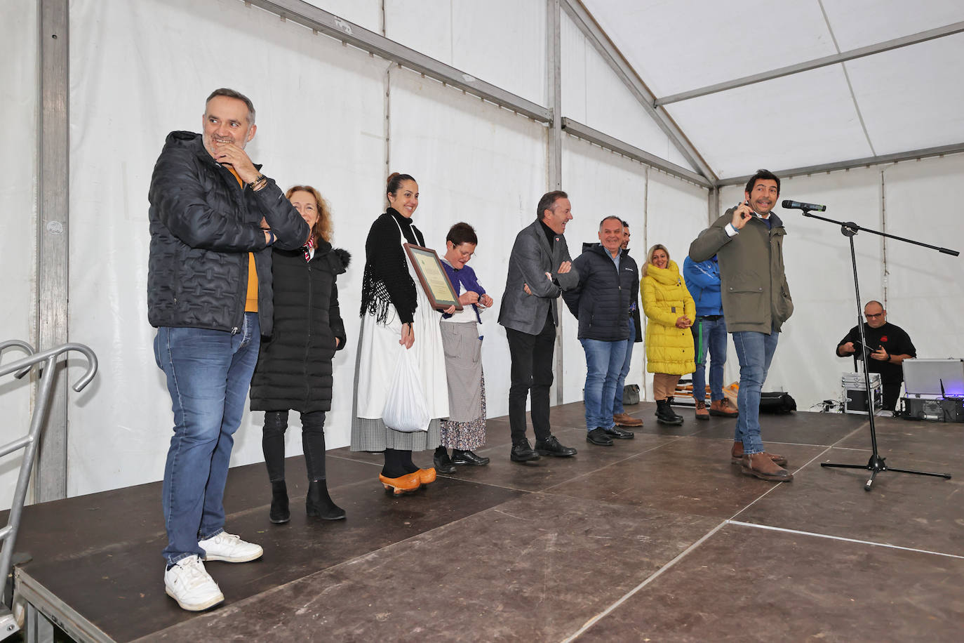
M 384 23 L 389 39 L 529 100 L 546 101 L 542 0 L 485 6 L 458 0 L 313 4 L 376 33 Z M 951 0 L 906 6 L 869 0 L 792 0 L 779 6 L 750 0 L 586 0 L 585 5 L 657 95 L 964 18 L 960 3 Z M 68 332 L 100 358 L 94 384 L 79 395 L 68 393 L 69 495 L 161 477 L 172 419 L 147 324 L 147 185 L 164 137 L 173 129 L 197 130 L 204 96 L 220 86 L 254 99 L 258 131 L 249 146 L 254 160 L 282 185 L 318 187 L 335 212 L 336 245 L 354 256 L 339 280 L 349 340 L 335 358 L 329 446 L 348 442 L 364 236 L 384 209 L 390 171 L 419 180 L 416 221 L 429 245 L 441 250 L 445 231 L 457 221 L 478 231 L 472 265 L 498 301 L 484 325 L 489 414 L 506 413 L 509 355 L 495 317 L 512 239 L 532 221 L 547 189 L 545 124 L 240 0 L 73 0 L 69 12 Z M 697 14 L 703 19 L 688 17 Z M 0 134 L 4 149 L 16 152 L 0 159 L 0 175 L 11 177 L 0 194 L 5 212 L 12 213 L 5 220 L 11 233 L 0 235 L 0 268 L 22 276 L 5 281 L 0 339 L 36 336 L 38 20 L 36 3 L 29 0 L 0 7 L 4 53 L 22 63 L 0 70 L 7 89 L 0 102 L 4 121 L 17 123 Z M 736 34 L 750 34 L 757 46 L 746 46 L 747 38 Z M 565 14 L 561 36 L 562 115 L 686 165 Z M 948 37 L 673 103 L 667 110 L 722 176 L 958 143 L 964 141 L 964 121 L 956 107 L 964 90 L 951 79 L 960 47 L 960 36 Z M 237 51 L 253 62 L 230 64 Z M 567 234 L 574 255 L 582 241 L 596 239 L 603 216 L 616 214 L 631 224 L 637 261 L 661 242 L 682 262 L 689 241 L 719 214 L 709 211 L 704 188 L 570 137 L 563 141 L 562 177 L 576 215 Z M 964 154 L 958 154 L 789 178 L 783 197 L 827 203 L 833 217 L 960 249 L 964 228 L 953 199 L 962 178 Z M 742 187 L 723 189 L 720 213 L 741 196 Z M 849 361 L 833 356 L 837 340 L 855 323 L 849 250 L 835 227 L 779 213 L 789 229 L 786 260 L 796 312 L 766 388 L 786 388 L 807 409 L 838 397 L 840 373 L 850 368 Z M 960 259 L 885 244 L 869 234 L 856 242 L 865 301 L 884 301 L 891 321 L 910 333 L 922 357 L 964 354 L 956 323 L 964 301 Z M 4 361 L 15 357 L 12 351 Z M 564 401 L 579 400 L 585 362 L 568 311 L 562 362 Z M 77 366 L 68 369 L 71 381 L 79 374 Z M 727 381 L 737 377 L 731 344 Z M 640 345 L 628 381 L 652 381 Z M 25 430 L 30 391 L 28 383 L 0 383 L 0 442 Z M 260 422 L 260 414 L 246 416 L 232 464 L 261 460 Z M 290 454 L 301 450 L 298 432 L 293 417 Z M 493 435 L 490 441 L 505 438 Z M 14 475 L 11 459 L 0 461 L 0 489 L 12 489 Z M 9 492 L 0 492 L 0 504 L 9 502 L 4 493 Z

